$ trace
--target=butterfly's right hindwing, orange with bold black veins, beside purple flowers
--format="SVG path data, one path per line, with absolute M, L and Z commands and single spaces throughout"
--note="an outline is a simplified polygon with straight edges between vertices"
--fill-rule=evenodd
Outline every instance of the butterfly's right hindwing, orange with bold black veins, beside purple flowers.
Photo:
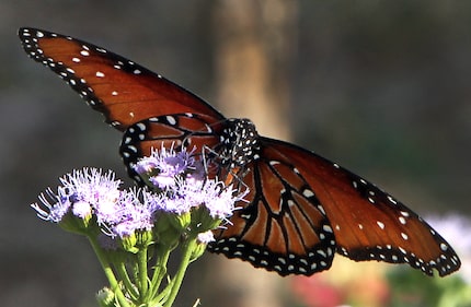
M 238 203 L 230 226 L 217 233 L 209 250 L 280 275 L 329 269 L 335 252 L 333 231 L 303 176 L 272 149 L 262 149 L 262 157 L 245 170 L 246 203 Z

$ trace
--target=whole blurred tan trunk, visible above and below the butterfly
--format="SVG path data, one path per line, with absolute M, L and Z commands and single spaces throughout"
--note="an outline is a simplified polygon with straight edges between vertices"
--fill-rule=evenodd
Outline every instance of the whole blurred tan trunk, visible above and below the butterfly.
M 289 68 L 297 46 L 297 3 L 218 1 L 214 8 L 216 102 L 228 117 L 246 117 L 261 134 L 289 139 Z M 211 297 L 203 305 L 282 306 L 276 273 L 211 257 Z M 209 268 L 208 268 L 209 269 Z M 205 304 L 206 302 L 206 304 Z

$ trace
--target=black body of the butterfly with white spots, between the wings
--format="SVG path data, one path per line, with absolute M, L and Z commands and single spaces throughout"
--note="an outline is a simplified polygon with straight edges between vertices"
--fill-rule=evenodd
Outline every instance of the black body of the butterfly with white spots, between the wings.
M 260 157 L 259 133 L 250 119 L 228 119 L 220 134 L 220 143 L 222 165 L 245 166 Z

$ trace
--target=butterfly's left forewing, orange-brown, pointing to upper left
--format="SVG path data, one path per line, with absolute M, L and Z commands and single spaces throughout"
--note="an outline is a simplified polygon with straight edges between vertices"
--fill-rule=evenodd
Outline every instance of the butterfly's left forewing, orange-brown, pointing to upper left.
M 104 48 L 34 28 L 21 28 L 20 38 L 31 58 L 49 67 L 119 130 L 179 113 L 223 119 L 186 90 Z

